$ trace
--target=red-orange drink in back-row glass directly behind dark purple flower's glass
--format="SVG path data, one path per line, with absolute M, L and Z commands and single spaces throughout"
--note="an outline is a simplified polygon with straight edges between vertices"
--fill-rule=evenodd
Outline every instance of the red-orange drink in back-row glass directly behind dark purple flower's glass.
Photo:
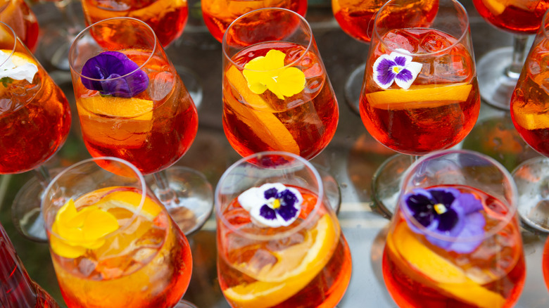
M 82 0 L 87 25 L 114 17 L 137 18 L 153 28 L 168 46 L 183 33 L 189 16 L 187 0 Z

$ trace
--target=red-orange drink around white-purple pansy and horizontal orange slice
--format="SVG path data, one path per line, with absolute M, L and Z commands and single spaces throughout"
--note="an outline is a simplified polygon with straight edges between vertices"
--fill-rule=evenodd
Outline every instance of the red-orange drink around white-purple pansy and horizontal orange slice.
M 384 41 L 398 40 L 413 49 L 412 53 L 436 51 L 455 43 L 456 39 L 436 30 L 393 30 L 384 35 Z M 418 42 L 424 40 L 426 45 Z M 428 45 L 430 44 L 430 45 Z M 400 45 L 397 45 L 400 46 Z M 372 68 L 374 61 L 382 54 L 389 53 L 379 44 L 372 46 L 374 54 L 367 63 Z M 479 84 L 474 70 L 472 56 L 465 46 L 457 44 L 444 58 L 414 57 L 412 61 L 422 62 L 424 67 L 435 67 L 434 61 L 441 61 L 441 73 L 436 77 L 420 73 L 410 89 L 425 89 L 432 85 L 471 84 L 467 98 L 463 101 L 437 101 L 424 103 L 424 97 L 409 95 L 409 102 L 398 103 L 398 107 L 389 105 L 374 106 L 370 95 L 381 89 L 373 80 L 371 70 L 365 79 L 360 98 L 360 116 L 366 129 L 379 143 L 410 155 L 422 155 L 434 150 L 451 148 L 469 134 L 480 110 Z M 454 60 L 454 62 L 452 62 Z M 437 70 L 437 68 L 435 68 Z M 446 79 L 446 76 L 448 79 Z M 400 89 L 393 84 L 389 89 Z M 412 93 L 412 92 L 411 92 Z

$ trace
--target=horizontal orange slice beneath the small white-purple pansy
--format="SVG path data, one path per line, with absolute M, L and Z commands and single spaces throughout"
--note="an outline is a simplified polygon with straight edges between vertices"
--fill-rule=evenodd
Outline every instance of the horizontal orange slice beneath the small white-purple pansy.
M 429 84 L 373 92 L 366 99 L 372 107 L 386 110 L 436 108 L 466 101 L 471 89 L 472 84 Z

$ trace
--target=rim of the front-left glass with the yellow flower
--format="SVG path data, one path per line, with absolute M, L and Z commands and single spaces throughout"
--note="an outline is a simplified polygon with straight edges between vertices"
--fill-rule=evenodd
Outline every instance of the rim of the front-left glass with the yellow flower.
M 46 186 L 46 188 L 44 188 L 44 195 L 46 195 L 46 193 L 48 191 L 51 190 L 53 184 L 56 183 L 56 181 L 62 177 L 64 174 L 70 172 L 71 170 L 77 168 L 77 167 L 80 167 L 82 165 L 86 165 L 88 164 L 89 162 L 94 162 L 94 164 L 103 169 L 101 166 L 97 165 L 96 161 L 98 160 L 113 160 L 115 162 L 119 162 L 120 164 L 122 165 L 125 165 L 127 167 L 130 167 L 130 169 L 132 169 L 133 172 L 135 172 L 135 174 L 137 175 L 137 179 L 139 180 L 139 183 L 141 184 L 141 200 L 139 201 L 139 205 L 137 206 L 135 212 L 132 213 L 132 217 L 130 219 L 128 219 L 128 221 L 126 222 L 126 224 L 124 224 L 123 226 L 120 226 L 116 231 L 114 231 L 113 233 L 109 233 L 108 235 L 106 236 L 102 236 L 101 238 L 103 239 L 106 239 L 106 238 L 110 238 L 111 236 L 115 236 L 116 234 L 120 233 L 120 231 L 124 231 L 125 229 L 127 229 L 128 226 L 130 226 L 131 224 L 134 223 L 135 219 L 137 219 L 137 216 L 139 216 L 139 213 L 141 213 L 141 210 L 143 209 L 143 205 L 145 203 L 145 200 L 147 198 L 147 186 L 146 186 L 146 181 L 145 181 L 145 177 L 143 176 L 143 174 L 139 171 L 139 169 L 137 169 L 137 167 L 135 167 L 131 162 L 128 162 L 126 160 L 122 160 L 121 158 L 115 158 L 113 156 L 99 156 L 99 157 L 96 157 L 96 158 L 87 158 L 86 160 L 81 160 L 80 162 L 76 162 L 75 164 L 73 165 L 70 165 L 69 167 L 66 167 L 65 169 L 61 170 L 61 172 L 59 172 L 55 177 L 53 177 L 53 179 L 51 179 L 51 181 L 49 182 L 48 186 Z M 107 169 L 103 169 L 105 170 L 106 172 L 110 172 L 108 171 Z M 111 172 L 113 173 L 113 172 Z M 114 174 L 114 173 L 113 173 Z M 90 191 L 91 192 L 91 191 Z M 88 192 L 88 193 L 90 193 Z M 85 195 L 86 193 L 84 193 L 83 195 Z M 44 203 L 46 203 L 45 199 L 42 198 L 42 202 L 40 203 L 40 211 L 42 212 L 42 216 L 46 217 L 45 213 L 44 213 L 44 210 L 45 210 L 45 207 L 44 207 Z M 160 207 L 161 211 L 164 211 L 163 207 Z M 63 238 L 62 236 L 60 236 L 59 234 L 57 234 L 56 232 L 53 232 L 53 230 L 51 229 L 51 227 L 53 226 L 53 224 L 51 224 L 51 226 L 45 222 L 44 223 L 44 226 L 46 228 L 46 231 L 48 231 L 51 235 L 53 236 L 56 236 L 56 238 L 59 238 L 61 240 L 66 240 L 65 238 Z

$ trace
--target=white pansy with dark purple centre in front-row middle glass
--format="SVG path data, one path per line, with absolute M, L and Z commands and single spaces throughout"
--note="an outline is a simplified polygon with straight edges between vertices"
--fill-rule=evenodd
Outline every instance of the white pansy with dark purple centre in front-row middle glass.
M 244 191 L 238 201 L 244 210 L 250 212 L 254 222 L 277 228 L 289 226 L 297 219 L 303 196 L 296 188 L 269 183 Z

